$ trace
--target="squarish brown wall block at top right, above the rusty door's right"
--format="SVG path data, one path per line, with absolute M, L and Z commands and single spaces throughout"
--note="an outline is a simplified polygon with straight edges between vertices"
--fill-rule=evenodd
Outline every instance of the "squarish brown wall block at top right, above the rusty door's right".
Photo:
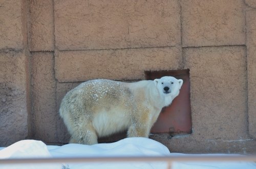
M 245 44 L 242 0 L 182 0 L 183 46 Z

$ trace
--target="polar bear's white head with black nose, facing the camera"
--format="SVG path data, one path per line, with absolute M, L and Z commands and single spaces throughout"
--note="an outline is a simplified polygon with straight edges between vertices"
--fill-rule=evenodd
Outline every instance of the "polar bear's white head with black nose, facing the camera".
M 160 94 L 162 93 L 165 98 L 164 106 L 168 106 L 179 95 L 183 80 L 172 76 L 164 76 L 161 79 L 155 79 L 154 83 Z

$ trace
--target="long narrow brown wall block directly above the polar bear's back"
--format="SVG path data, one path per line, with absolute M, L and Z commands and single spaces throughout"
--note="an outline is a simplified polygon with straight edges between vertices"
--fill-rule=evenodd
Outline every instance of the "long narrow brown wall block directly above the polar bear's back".
M 178 47 L 60 51 L 55 53 L 55 75 L 59 82 L 140 80 L 144 70 L 179 69 L 181 60 Z

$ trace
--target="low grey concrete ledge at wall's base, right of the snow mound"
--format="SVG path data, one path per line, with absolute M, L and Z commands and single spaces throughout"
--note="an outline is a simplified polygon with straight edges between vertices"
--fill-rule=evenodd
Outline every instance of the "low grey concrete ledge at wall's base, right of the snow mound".
M 255 154 L 256 141 L 253 139 L 196 139 L 193 134 L 176 135 L 168 134 L 152 135 L 155 139 L 167 146 L 172 153 L 234 153 Z

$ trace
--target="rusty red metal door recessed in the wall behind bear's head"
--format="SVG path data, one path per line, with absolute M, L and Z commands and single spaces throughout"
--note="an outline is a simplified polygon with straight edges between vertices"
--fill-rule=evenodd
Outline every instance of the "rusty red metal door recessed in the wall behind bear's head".
M 159 79 L 163 76 L 173 76 L 183 80 L 180 94 L 172 104 L 162 109 L 151 133 L 183 134 L 191 133 L 191 106 L 189 69 L 145 71 L 146 80 Z

